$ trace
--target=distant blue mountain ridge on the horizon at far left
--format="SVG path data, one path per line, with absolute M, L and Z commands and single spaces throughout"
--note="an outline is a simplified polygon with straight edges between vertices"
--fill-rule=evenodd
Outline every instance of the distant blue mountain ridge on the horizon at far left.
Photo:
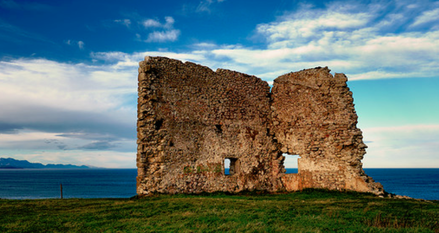
M 3 168 L 90 168 L 89 166 L 76 166 L 76 165 L 64 165 L 64 164 L 48 164 L 43 165 L 40 163 L 31 163 L 27 160 L 16 160 L 12 158 L 0 158 L 0 169 Z

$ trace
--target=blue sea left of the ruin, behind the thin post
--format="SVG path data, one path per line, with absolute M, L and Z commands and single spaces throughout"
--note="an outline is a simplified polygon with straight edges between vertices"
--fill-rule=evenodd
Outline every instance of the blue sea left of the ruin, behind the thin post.
M 137 169 L 0 169 L 1 199 L 130 198 Z

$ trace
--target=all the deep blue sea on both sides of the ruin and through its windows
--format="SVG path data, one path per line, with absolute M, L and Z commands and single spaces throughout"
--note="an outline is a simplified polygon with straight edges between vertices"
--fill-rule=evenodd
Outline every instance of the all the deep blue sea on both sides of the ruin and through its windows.
M 439 200 L 439 168 L 364 170 L 388 193 Z M 57 199 L 61 186 L 63 198 L 131 198 L 136 175 L 137 169 L 0 169 L 0 199 Z

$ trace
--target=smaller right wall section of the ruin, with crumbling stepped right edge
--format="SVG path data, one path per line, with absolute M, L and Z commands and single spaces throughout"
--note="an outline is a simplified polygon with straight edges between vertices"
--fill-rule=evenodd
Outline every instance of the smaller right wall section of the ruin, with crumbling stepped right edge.
M 287 190 L 328 188 L 378 191 L 362 168 L 367 146 L 356 127 L 344 74 L 328 67 L 282 75 L 272 88 L 274 132 L 281 151 L 299 155 L 298 174 L 284 175 Z M 371 181 L 371 182 L 369 182 Z

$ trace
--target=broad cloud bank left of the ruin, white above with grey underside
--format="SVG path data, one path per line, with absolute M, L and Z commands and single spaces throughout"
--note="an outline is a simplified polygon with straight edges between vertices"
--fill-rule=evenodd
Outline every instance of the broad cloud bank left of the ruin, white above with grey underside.
M 18 59 L 0 70 L 0 148 L 135 151 L 133 66 Z

